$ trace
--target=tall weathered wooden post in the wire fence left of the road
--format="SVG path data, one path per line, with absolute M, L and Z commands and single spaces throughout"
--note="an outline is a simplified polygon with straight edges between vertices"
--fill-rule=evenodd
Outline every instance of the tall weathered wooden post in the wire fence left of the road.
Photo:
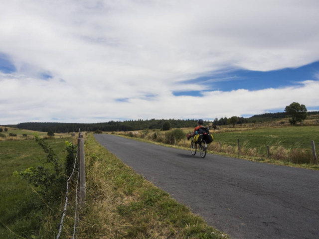
M 80 132 L 78 137 L 78 149 L 79 149 L 79 177 L 80 177 L 80 208 L 85 207 L 85 158 L 84 158 L 84 138 Z

